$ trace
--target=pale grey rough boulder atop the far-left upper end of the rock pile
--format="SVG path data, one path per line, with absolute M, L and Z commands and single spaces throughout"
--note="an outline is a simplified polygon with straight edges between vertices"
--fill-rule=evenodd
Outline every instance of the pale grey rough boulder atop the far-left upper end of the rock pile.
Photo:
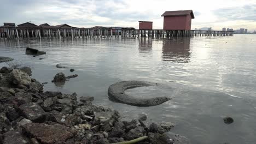
M 19 69 L 11 71 L 11 77 L 15 85 L 29 86 L 31 84 L 30 76 Z

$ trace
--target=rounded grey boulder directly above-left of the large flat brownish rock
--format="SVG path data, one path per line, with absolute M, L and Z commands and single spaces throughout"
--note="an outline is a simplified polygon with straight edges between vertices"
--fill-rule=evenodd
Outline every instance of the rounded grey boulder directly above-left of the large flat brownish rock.
M 46 118 L 46 113 L 42 107 L 36 103 L 28 103 L 19 106 L 19 113 L 32 122 L 43 122 Z

